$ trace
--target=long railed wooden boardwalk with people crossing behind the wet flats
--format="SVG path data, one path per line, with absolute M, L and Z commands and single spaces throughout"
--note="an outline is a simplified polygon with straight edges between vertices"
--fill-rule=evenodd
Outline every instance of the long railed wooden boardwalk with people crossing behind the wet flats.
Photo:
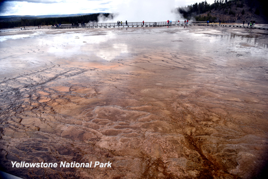
M 0 32 L 10 32 L 10 31 L 25 31 L 25 30 L 38 30 L 38 29 L 77 29 L 77 28 L 116 28 L 116 27 L 161 27 L 161 26 L 191 26 L 191 25 L 199 25 L 199 26 L 220 26 L 220 27 L 239 27 L 239 28 L 250 28 L 250 29 L 263 29 L 268 30 L 267 27 L 261 27 L 261 26 L 243 26 L 243 25 L 232 25 L 232 24 L 214 24 L 210 23 L 207 24 L 207 21 L 189 21 L 188 23 L 182 22 L 128 22 L 128 23 L 114 23 L 114 22 L 108 22 L 108 23 L 84 23 L 79 24 L 78 26 L 72 25 L 72 24 L 61 24 L 58 27 L 46 27 L 46 28 L 26 28 L 26 29 L 15 29 L 15 30 L 0 30 Z

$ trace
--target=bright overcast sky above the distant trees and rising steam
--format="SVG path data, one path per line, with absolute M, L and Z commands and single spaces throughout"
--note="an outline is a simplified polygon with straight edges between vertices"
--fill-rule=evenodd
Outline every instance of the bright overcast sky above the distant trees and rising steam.
M 137 0 L 0 0 L 0 16 L 10 15 L 57 15 L 78 13 L 120 13 L 118 7 L 122 4 L 131 4 Z M 158 4 L 171 4 L 174 7 L 186 6 L 204 0 L 161 0 Z M 155 0 L 138 0 L 140 4 L 128 8 L 145 9 L 157 7 Z M 167 2 L 167 3 L 166 3 Z M 208 3 L 214 0 L 207 0 Z M 162 4 L 163 5 L 163 4 Z M 171 7 L 172 8 L 172 7 Z M 157 11 L 161 11 L 158 9 Z

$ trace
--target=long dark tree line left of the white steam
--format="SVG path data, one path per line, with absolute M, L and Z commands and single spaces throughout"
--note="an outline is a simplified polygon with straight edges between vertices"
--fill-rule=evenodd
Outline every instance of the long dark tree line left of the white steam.
M 73 16 L 73 17 L 63 17 L 63 18 L 39 18 L 39 19 L 21 19 L 18 21 L 11 22 L 0 22 L 0 28 L 13 28 L 21 26 L 38 26 L 38 25 L 54 25 L 54 24 L 69 24 L 69 23 L 87 23 L 90 21 L 98 21 L 98 16 L 100 13 L 84 15 L 84 16 Z M 108 17 L 110 14 L 102 14 Z

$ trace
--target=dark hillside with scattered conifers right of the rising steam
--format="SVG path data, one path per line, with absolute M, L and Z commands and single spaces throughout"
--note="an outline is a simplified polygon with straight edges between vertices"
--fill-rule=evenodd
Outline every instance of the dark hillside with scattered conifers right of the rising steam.
M 257 23 L 268 23 L 268 11 L 264 0 L 215 0 L 206 1 L 187 7 L 177 8 L 177 12 L 189 20 L 210 20 L 214 22 L 242 23 L 255 20 Z

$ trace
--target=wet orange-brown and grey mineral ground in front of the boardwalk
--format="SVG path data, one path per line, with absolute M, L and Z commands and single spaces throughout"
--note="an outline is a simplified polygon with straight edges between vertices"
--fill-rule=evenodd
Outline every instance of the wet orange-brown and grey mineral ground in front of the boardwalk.
M 267 169 L 268 31 L 47 29 L 2 33 L 0 41 L 2 171 L 25 179 L 251 179 Z

